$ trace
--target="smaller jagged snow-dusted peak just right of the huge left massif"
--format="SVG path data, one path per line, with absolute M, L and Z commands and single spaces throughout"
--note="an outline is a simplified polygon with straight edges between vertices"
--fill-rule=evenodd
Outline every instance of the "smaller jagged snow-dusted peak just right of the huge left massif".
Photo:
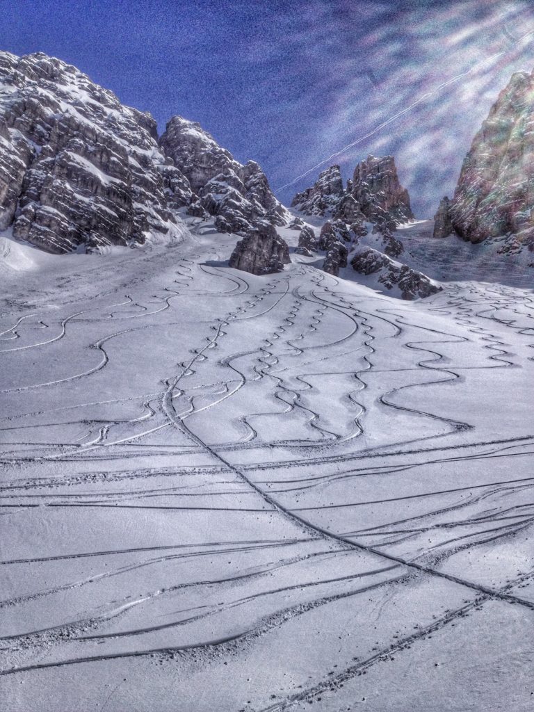
M 199 123 L 172 117 L 159 144 L 187 177 L 201 206 L 221 217 L 219 224 L 227 226 L 226 231 L 245 233 L 261 219 L 275 225 L 293 219 L 274 197 L 261 167 L 254 161 L 236 161 Z M 193 209 L 198 210 L 196 203 L 189 212 Z

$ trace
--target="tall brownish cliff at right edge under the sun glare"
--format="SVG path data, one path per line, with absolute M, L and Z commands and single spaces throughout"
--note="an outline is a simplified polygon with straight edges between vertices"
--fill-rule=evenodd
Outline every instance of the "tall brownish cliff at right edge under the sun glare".
M 534 73 L 515 73 L 473 139 L 449 210 L 473 243 L 534 236 Z

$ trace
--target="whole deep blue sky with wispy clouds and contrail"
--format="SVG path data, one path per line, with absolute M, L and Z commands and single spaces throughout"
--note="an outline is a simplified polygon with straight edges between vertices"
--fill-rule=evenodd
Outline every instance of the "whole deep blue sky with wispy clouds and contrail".
M 0 48 L 75 64 L 124 103 L 150 110 L 160 131 L 174 114 L 201 122 L 236 158 L 261 163 L 283 201 L 343 147 L 330 162 L 345 177 L 367 154 L 392 153 L 426 217 L 454 190 L 511 73 L 533 69 L 534 7 L 0 0 Z

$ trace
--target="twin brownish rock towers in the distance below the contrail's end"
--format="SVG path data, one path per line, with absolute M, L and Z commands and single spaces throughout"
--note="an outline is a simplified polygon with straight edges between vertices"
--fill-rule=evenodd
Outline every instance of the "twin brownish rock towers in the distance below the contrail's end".
M 368 156 L 357 164 L 346 189 L 340 167 L 330 166 L 311 188 L 296 194 L 291 205 L 306 215 L 331 216 L 349 224 L 369 221 L 393 230 L 414 219 L 392 156 Z

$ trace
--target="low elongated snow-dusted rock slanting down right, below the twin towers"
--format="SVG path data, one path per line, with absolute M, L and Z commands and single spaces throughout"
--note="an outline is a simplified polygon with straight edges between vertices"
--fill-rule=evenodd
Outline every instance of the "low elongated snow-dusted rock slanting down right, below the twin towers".
M 378 283 L 388 290 L 398 289 L 402 299 L 428 297 L 441 291 L 441 287 L 422 272 L 394 261 L 371 247 L 358 250 L 350 264 L 360 274 L 375 275 Z

